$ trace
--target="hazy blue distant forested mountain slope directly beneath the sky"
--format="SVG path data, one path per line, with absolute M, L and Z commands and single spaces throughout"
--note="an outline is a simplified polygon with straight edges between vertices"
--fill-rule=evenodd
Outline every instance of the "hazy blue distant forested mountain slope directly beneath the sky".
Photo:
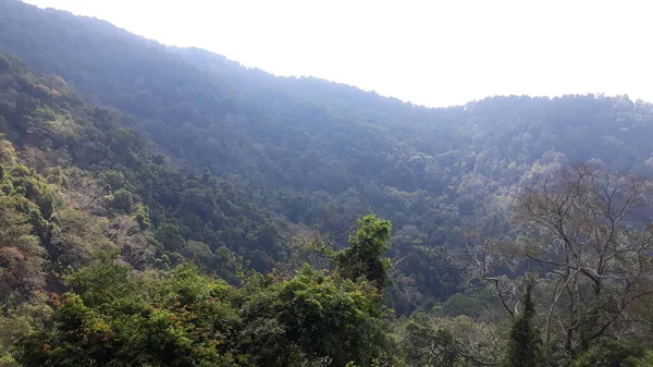
M 286 224 L 337 232 L 369 211 L 391 219 L 391 255 L 404 259 L 396 298 L 410 299 L 395 305 L 402 311 L 457 290 L 457 270 L 442 250 L 505 212 L 520 181 L 592 159 L 653 173 L 653 108 L 626 97 L 512 96 L 428 109 L 317 78 L 274 77 L 19 1 L 0 0 L 0 49 L 60 74 L 87 100 L 120 109 L 125 125 L 170 157 L 210 168 Z M 202 215 L 188 219 L 182 209 L 173 211 L 185 236 L 202 233 Z M 279 236 L 268 232 L 250 235 L 245 225 L 227 237 L 243 241 L 243 252 L 267 254 L 257 255 L 262 269 L 267 256 L 283 258 Z M 195 238 L 211 248 L 223 241 Z

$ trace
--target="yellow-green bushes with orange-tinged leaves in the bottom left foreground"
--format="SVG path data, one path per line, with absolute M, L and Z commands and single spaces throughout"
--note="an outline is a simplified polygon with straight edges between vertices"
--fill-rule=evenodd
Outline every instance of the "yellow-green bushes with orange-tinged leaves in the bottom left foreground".
M 17 344 L 22 365 L 235 366 L 226 338 L 238 317 L 223 282 L 184 267 L 168 280 L 125 290 L 121 283 L 137 284 L 135 279 L 110 261 L 71 279 L 89 295 L 71 293 L 56 303 L 52 327 Z M 135 290 L 140 296 L 131 296 Z

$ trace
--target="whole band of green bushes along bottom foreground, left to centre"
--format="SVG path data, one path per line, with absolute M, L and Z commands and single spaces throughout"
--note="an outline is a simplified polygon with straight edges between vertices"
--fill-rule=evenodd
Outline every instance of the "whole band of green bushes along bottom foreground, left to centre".
M 377 290 L 304 269 L 242 290 L 189 265 L 137 280 L 104 257 L 67 278 L 46 327 L 14 348 L 22 366 L 372 366 L 393 351 Z

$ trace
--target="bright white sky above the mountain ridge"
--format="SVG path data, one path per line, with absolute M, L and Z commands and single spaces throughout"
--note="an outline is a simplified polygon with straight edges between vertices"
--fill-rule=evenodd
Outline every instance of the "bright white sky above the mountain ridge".
M 648 0 L 27 0 L 417 105 L 495 95 L 653 101 Z

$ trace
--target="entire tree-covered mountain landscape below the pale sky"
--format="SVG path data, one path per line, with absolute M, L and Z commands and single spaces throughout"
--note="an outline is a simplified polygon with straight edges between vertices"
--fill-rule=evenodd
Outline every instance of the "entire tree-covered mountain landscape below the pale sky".
M 0 14 L 0 366 L 653 365 L 653 105 Z

